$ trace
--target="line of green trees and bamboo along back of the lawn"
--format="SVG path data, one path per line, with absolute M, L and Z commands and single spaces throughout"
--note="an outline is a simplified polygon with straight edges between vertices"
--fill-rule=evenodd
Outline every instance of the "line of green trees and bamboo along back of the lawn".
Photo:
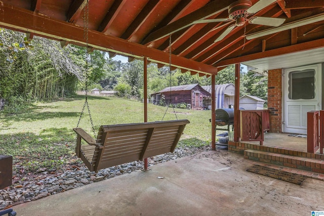
M 168 66 L 148 65 L 148 94 L 166 87 L 198 83 L 210 85 L 206 76 L 170 71 Z M 218 73 L 216 83 L 234 83 L 234 66 Z M 117 96 L 143 99 L 143 61 L 114 61 L 102 51 L 87 53 L 86 48 L 0 28 L 0 100 L 17 108 L 26 102 L 70 97 L 76 91 L 98 88 L 115 90 Z M 266 100 L 267 78 L 241 72 L 241 94 Z M 0 101 L 0 102 L 1 102 Z M 1 103 L 0 103 L 1 105 Z M 0 106 L 1 107 L 1 106 Z

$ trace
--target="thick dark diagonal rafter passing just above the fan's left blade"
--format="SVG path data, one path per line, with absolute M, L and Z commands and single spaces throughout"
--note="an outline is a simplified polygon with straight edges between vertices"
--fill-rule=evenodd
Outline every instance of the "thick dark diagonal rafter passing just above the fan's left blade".
M 173 34 L 181 29 L 184 29 L 190 25 L 192 25 L 193 21 L 205 19 L 215 14 L 218 14 L 224 10 L 227 10 L 228 6 L 235 2 L 236 0 L 228 0 L 228 1 L 221 1 L 217 0 L 207 4 L 206 6 L 164 26 L 160 29 L 150 33 L 142 42 L 142 44 L 146 45 L 155 40 L 164 38 L 165 36 L 169 35 L 170 33 Z

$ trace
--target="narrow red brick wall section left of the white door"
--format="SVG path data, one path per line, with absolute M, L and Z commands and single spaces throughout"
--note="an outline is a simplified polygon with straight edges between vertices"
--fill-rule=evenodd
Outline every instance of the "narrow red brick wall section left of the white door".
M 281 133 L 281 69 L 268 70 L 268 109 L 270 110 L 270 132 Z

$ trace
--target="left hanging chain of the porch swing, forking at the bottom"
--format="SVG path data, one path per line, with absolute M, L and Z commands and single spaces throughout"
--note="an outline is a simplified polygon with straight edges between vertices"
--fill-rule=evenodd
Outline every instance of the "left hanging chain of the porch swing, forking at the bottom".
M 82 112 L 80 114 L 79 120 L 77 122 L 76 127 L 79 126 L 80 124 L 80 120 L 82 118 L 82 115 L 85 112 L 85 107 L 87 105 L 87 109 L 88 109 L 88 113 L 89 113 L 89 118 L 90 118 L 90 122 L 91 122 L 91 126 L 92 126 L 92 131 L 94 134 L 95 139 L 97 140 L 97 136 L 96 136 L 96 130 L 93 124 L 93 120 L 92 120 L 92 116 L 90 113 L 90 107 L 89 107 L 89 103 L 88 103 L 88 84 L 89 84 L 89 78 L 88 78 L 88 73 L 89 73 L 89 52 L 88 52 L 88 45 L 89 45 L 89 0 L 87 0 L 87 4 L 85 6 L 85 10 L 84 10 L 84 20 L 83 20 L 83 24 L 84 24 L 84 38 L 86 39 L 86 100 L 85 103 L 83 105 L 82 108 Z

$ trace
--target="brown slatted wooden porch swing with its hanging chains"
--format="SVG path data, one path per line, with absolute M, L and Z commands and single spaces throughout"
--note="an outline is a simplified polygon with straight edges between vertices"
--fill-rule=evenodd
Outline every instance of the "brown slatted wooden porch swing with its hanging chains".
M 85 7 L 85 36 L 88 46 L 89 4 Z M 170 36 L 171 38 L 171 36 Z M 171 51 L 170 51 L 171 52 Z M 90 171 L 128 163 L 159 154 L 173 152 L 180 140 L 188 120 L 169 120 L 156 122 L 101 125 L 96 136 L 88 104 L 88 59 L 86 53 L 86 96 L 77 126 L 73 128 L 76 136 L 76 155 L 82 159 Z M 170 53 L 171 73 L 171 53 Z M 95 138 L 78 127 L 87 106 Z M 169 107 L 169 106 L 168 106 Z M 168 109 L 168 108 L 167 108 Z M 167 111 L 166 111 L 167 112 Z M 166 114 L 166 113 L 165 113 Z M 87 144 L 82 145 L 82 140 Z

